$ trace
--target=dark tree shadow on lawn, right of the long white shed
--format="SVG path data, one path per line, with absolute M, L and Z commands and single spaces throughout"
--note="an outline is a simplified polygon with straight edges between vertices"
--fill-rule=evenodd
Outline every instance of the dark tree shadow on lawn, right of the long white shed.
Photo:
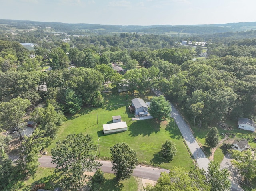
M 137 120 L 128 127 L 128 130 L 130 131 L 129 135 L 132 137 L 139 135 L 150 136 L 160 131 L 160 122 L 155 119 Z

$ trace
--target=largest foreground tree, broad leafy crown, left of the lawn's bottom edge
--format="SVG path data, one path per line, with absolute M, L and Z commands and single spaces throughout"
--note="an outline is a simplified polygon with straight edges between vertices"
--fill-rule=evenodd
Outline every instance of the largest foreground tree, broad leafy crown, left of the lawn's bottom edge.
M 52 163 L 56 164 L 55 172 L 62 175 L 66 190 L 79 190 L 90 178 L 84 172 L 92 172 L 101 164 L 95 161 L 97 146 L 92 136 L 69 134 L 62 142 L 57 142 L 52 149 Z

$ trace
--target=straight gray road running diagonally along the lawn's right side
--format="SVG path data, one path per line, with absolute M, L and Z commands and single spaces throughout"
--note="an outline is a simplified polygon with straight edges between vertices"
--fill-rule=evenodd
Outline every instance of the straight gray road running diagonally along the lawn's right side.
M 178 125 L 178 128 L 180 129 L 180 132 L 184 140 L 186 141 L 186 144 L 188 145 L 190 152 L 192 153 L 195 159 L 197 158 L 198 167 L 200 169 L 204 169 L 205 171 L 207 171 L 208 163 L 210 162 L 209 159 L 205 156 L 203 150 L 196 142 L 196 139 L 194 138 L 194 135 L 192 134 L 190 128 L 188 127 L 188 124 L 184 121 L 184 119 L 176 110 L 176 108 L 172 104 L 171 106 L 171 116 L 172 118 L 174 118 L 176 124 Z

